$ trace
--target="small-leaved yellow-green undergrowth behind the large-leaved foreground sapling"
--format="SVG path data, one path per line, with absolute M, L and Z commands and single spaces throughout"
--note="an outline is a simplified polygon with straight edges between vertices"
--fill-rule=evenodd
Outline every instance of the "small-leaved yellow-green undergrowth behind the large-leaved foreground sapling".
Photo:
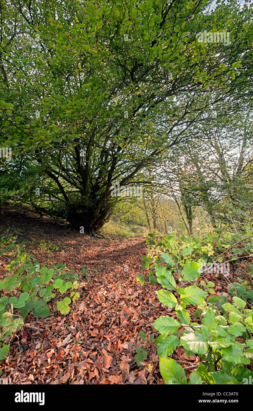
M 146 238 L 147 247 L 149 253 L 147 256 L 143 256 L 142 268 L 146 270 L 150 269 L 148 278 L 151 284 L 159 282 L 164 288 L 171 288 L 169 284 L 168 276 L 178 275 L 178 270 L 182 272 L 182 280 L 193 281 L 198 277 L 198 270 L 201 270 L 201 265 L 212 265 L 213 259 L 224 251 L 224 248 L 233 246 L 234 242 L 238 241 L 238 236 L 235 233 L 229 231 L 223 232 L 222 235 L 214 231 L 212 234 L 194 235 L 194 237 L 187 237 L 185 235 L 177 236 L 177 233 L 172 233 L 169 236 L 159 236 L 157 233 L 149 233 Z M 246 245 L 245 245 L 246 243 Z M 248 240 L 232 248 L 231 261 L 237 259 L 237 255 L 252 255 L 253 242 Z M 217 263 L 222 261 L 222 257 L 217 258 Z M 191 265 L 189 264 L 191 263 Z M 158 264 L 161 268 L 156 270 Z M 163 267 L 166 271 L 163 271 Z M 195 270 L 193 269 L 195 268 Z M 253 271 L 253 270 L 252 270 Z M 168 272 L 170 274 L 168 274 Z M 197 274 L 197 277 L 196 277 Z M 142 284 L 145 283 L 145 274 L 141 276 Z M 201 283 L 206 291 L 213 293 L 212 282 L 207 284 Z M 251 291 L 246 292 L 246 288 L 243 284 L 239 290 L 244 290 L 248 301 L 253 298 Z M 174 286 L 175 287 L 175 286 Z M 233 294 L 234 295 L 234 294 Z M 252 300 L 253 301 L 253 300 Z

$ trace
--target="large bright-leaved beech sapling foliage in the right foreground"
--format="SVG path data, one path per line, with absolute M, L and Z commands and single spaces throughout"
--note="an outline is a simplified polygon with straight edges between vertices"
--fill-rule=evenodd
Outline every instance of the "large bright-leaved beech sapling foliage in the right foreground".
M 178 318 L 160 316 L 153 323 L 160 332 L 156 344 L 164 382 L 187 384 L 183 368 L 168 358 L 181 345 L 186 355 L 197 355 L 201 361 L 191 374 L 189 384 L 242 384 L 251 373 L 246 366 L 253 358 L 253 310 L 247 300 L 252 298 L 251 292 L 239 283 L 230 284 L 232 298 L 227 302 L 227 293 L 218 296 L 212 289 L 213 282 L 206 284 L 201 280 L 207 292 L 203 291 L 194 283 L 200 276 L 201 264 L 189 261 L 183 268 L 180 264 L 181 256 L 191 254 L 190 247 L 182 249 L 175 242 L 170 246 L 171 255 L 161 253 L 156 260 L 165 263 L 171 271 L 155 264 L 157 281 L 163 287 L 157 291 L 157 297 L 166 307 L 174 308 Z M 194 244 L 191 247 L 194 248 Z M 189 282 L 192 284 L 184 286 Z M 187 305 L 198 305 L 198 322 L 191 322 Z M 242 342 L 237 337 L 242 337 Z

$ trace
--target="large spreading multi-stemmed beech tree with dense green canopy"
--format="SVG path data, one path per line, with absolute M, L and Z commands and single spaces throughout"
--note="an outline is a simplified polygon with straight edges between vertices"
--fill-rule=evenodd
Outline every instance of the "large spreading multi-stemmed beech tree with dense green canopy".
M 98 235 L 112 186 L 134 185 L 225 94 L 250 102 L 252 7 L 211 4 L 0 0 L 2 201 Z

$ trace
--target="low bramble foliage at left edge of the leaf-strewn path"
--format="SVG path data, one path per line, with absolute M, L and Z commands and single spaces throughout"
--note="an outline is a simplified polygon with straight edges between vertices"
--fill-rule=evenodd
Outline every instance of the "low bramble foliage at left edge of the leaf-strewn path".
M 9 244 L 0 253 L 13 253 L 15 259 L 7 266 L 7 277 L 0 281 L 0 360 L 7 357 L 9 351 L 8 340 L 14 332 L 19 330 L 25 317 L 32 312 L 35 318 L 46 318 L 50 315 L 48 302 L 68 289 L 78 288 L 80 276 L 74 270 L 66 270 L 62 263 L 53 268 L 39 265 L 32 254 L 27 254 L 24 247 Z M 15 291 L 15 296 L 11 294 Z M 73 302 L 80 297 L 77 291 L 70 296 Z M 57 304 L 61 314 L 70 311 L 71 299 L 65 297 Z

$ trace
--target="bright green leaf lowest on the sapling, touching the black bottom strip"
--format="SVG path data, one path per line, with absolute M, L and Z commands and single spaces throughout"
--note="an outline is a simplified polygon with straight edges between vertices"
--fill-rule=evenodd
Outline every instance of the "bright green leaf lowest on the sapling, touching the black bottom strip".
M 159 365 L 165 384 L 187 384 L 185 372 L 175 360 L 160 357 Z

